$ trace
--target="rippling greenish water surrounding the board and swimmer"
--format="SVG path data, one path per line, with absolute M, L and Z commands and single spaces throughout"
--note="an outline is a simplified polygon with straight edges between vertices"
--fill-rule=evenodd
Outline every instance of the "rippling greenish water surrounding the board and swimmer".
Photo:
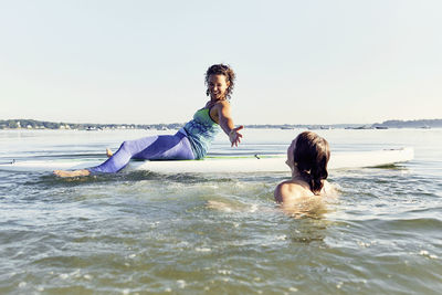
M 234 151 L 285 152 L 299 131 L 245 129 Z M 440 294 L 442 129 L 317 133 L 332 150 L 415 158 L 332 170 L 339 196 L 295 214 L 273 200 L 286 173 L 0 170 L 0 294 Z M 150 134 L 1 130 L 0 161 L 105 159 Z M 217 138 L 211 154 L 230 152 Z

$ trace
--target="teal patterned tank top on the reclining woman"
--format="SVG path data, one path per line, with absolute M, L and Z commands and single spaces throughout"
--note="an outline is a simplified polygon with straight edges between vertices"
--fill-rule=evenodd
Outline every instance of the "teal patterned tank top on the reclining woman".
M 183 127 L 196 159 L 202 159 L 206 156 L 214 137 L 221 130 L 220 125 L 210 117 L 209 110 L 209 108 L 197 110 L 193 119 Z

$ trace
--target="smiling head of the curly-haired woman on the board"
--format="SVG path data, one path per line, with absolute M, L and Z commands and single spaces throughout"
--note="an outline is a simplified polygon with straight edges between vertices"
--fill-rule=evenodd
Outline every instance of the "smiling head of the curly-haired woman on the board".
M 230 99 L 234 87 L 235 74 L 225 64 L 211 65 L 206 72 L 207 96 L 218 99 Z

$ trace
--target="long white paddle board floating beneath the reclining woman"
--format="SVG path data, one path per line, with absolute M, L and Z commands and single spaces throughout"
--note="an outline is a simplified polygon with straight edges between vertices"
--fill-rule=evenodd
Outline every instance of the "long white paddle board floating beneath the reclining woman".
M 328 169 L 351 169 L 387 166 L 412 160 L 413 148 L 383 149 L 372 151 L 332 152 Z M 104 159 L 103 159 L 104 160 Z M 232 173 L 232 172 L 287 172 L 286 155 L 273 156 L 219 156 L 202 160 L 137 161 L 133 160 L 125 170 L 148 170 L 159 173 Z M 99 165 L 97 160 L 32 160 L 0 164 L 0 170 L 53 171 L 75 170 Z

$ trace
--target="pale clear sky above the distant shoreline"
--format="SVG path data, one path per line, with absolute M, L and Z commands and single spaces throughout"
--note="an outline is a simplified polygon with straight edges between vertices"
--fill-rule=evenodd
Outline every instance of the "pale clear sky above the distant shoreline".
M 0 0 L 0 119 L 185 123 L 236 73 L 239 124 L 442 118 L 440 0 Z

